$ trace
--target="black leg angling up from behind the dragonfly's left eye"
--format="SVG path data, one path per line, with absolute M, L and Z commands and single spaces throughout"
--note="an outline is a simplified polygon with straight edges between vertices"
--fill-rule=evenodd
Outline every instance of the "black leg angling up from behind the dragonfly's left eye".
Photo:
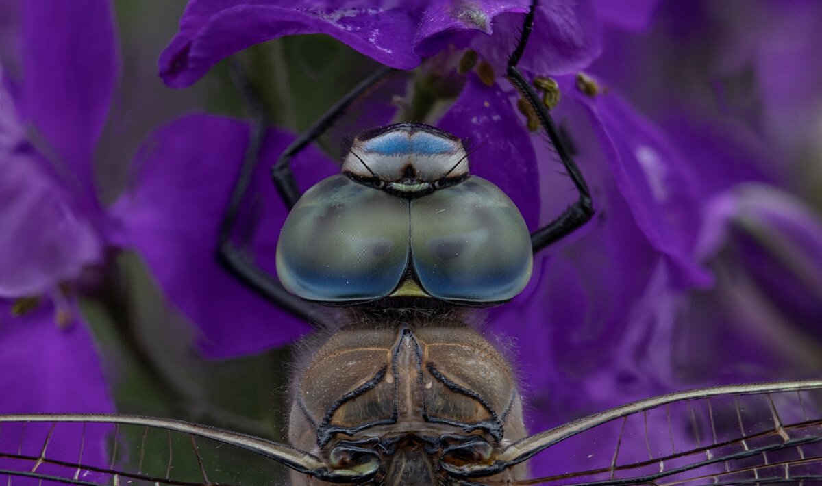
M 294 179 L 291 160 L 299 154 L 302 149 L 305 149 L 309 144 L 312 144 L 316 139 L 320 138 L 322 134 L 326 133 L 326 131 L 339 120 L 339 117 L 344 115 L 351 106 L 351 103 L 395 71 L 396 70 L 391 67 L 382 67 L 365 80 L 360 81 L 358 85 L 349 91 L 349 94 L 346 94 L 343 99 L 335 103 L 326 114 L 300 135 L 297 140 L 294 140 L 289 145 L 289 148 L 285 149 L 283 154 L 279 156 L 275 166 L 271 167 L 271 179 L 274 181 L 275 186 L 277 186 L 277 191 L 289 210 L 294 207 L 294 204 L 297 204 L 297 199 L 300 199 L 300 190 L 297 187 L 297 180 Z

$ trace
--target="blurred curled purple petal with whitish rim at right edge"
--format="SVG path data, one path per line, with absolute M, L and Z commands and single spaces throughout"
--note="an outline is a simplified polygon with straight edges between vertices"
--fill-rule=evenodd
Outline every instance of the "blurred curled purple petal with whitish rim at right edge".
M 774 186 L 713 198 L 700 257 L 716 268 L 680 319 L 678 360 L 708 384 L 812 378 L 822 365 L 822 219 Z M 700 360 L 694 360 L 700 353 Z

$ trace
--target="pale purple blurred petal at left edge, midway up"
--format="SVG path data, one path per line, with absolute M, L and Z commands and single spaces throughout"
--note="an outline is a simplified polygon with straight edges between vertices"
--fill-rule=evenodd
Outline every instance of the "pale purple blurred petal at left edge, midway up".
M 33 296 L 101 258 L 99 236 L 76 201 L 25 146 L 0 148 L 0 296 Z

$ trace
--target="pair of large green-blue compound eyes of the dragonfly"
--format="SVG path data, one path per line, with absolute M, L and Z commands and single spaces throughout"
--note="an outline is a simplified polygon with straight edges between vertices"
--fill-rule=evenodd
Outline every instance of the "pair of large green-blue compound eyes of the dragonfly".
M 292 209 L 277 274 L 307 300 L 376 300 L 398 288 L 409 259 L 428 296 L 490 304 L 522 291 L 533 256 L 514 203 L 480 177 L 404 199 L 340 175 Z

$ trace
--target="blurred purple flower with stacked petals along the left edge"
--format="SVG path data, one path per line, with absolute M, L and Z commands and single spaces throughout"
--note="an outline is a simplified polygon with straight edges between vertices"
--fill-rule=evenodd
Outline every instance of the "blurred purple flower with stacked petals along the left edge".
M 21 3 L 19 52 L 3 59 L 20 72 L 0 88 L 3 413 L 113 410 L 79 288 L 64 285 L 103 259 L 90 166 L 118 76 L 112 11 L 58 3 Z M 40 303 L 12 317 L 23 298 Z

